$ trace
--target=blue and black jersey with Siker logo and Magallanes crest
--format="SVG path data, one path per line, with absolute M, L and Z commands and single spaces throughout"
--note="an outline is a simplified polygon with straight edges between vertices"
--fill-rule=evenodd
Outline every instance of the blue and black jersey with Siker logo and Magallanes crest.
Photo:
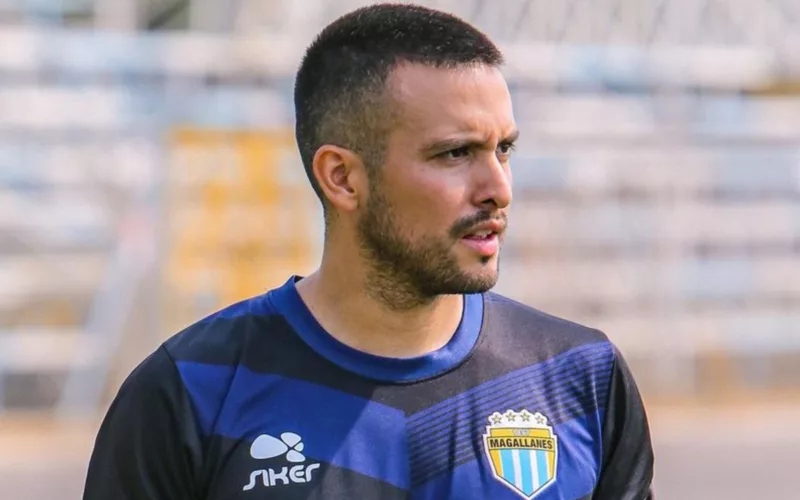
M 643 500 L 653 453 L 600 332 L 486 293 L 438 351 L 329 335 L 298 278 L 167 340 L 99 431 L 84 500 Z

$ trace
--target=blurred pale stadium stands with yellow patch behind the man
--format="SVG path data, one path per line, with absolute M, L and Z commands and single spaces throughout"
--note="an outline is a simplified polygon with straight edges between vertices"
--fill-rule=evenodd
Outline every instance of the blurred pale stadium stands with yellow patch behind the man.
M 0 0 L 0 499 L 78 499 L 133 366 L 313 269 L 294 70 L 366 3 Z M 659 500 L 800 498 L 800 1 L 423 3 L 507 53 L 498 291 L 620 346 Z

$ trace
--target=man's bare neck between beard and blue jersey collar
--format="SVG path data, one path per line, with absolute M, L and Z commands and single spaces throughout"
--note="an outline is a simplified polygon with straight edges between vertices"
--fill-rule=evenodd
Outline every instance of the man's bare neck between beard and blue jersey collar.
M 461 321 L 460 295 L 442 295 L 397 309 L 370 293 L 359 266 L 323 257 L 320 268 L 297 284 L 317 321 L 340 342 L 363 352 L 409 358 L 435 351 L 452 338 Z M 386 284 L 384 284 L 386 285 Z

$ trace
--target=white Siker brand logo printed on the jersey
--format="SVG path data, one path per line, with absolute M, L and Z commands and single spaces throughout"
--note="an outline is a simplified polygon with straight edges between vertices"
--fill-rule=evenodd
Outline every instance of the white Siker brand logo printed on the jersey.
M 319 464 L 306 464 L 303 455 L 303 438 L 293 432 L 284 432 L 280 439 L 262 434 L 250 446 L 250 456 L 256 460 L 268 460 L 283 456 L 290 466 L 280 469 L 260 469 L 250 474 L 250 482 L 242 488 L 250 491 L 259 484 L 267 488 L 286 486 L 289 484 L 307 483 L 311 481 L 312 473 L 319 469 Z

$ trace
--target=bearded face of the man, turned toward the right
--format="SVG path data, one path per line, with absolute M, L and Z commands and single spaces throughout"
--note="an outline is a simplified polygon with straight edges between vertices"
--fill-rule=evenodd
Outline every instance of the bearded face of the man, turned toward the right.
M 388 94 L 394 122 L 358 221 L 373 280 L 418 300 L 489 290 L 517 133 L 505 80 L 486 66 L 403 64 Z

